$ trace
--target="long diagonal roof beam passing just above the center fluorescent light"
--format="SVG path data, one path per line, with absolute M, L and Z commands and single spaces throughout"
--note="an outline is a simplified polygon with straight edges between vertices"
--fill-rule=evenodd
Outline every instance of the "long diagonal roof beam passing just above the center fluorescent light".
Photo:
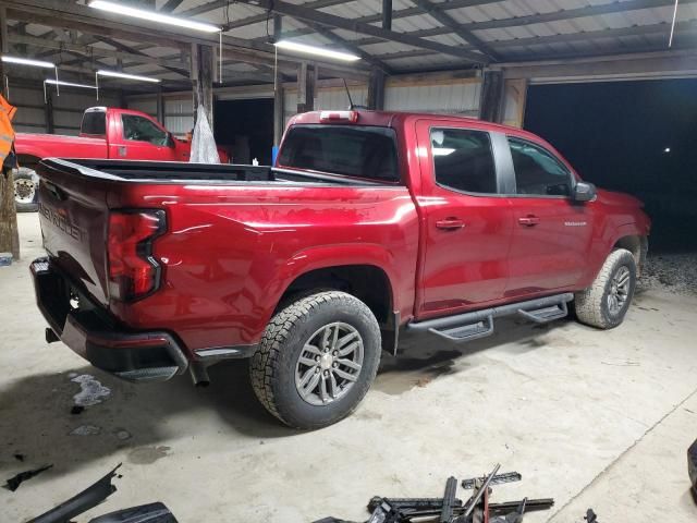
M 362 33 L 365 35 L 375 36 L 387 41 L 396 41 L 406 46 L 412 46 L 420 49 L 430 49 L 436 52 L 442 52 L 444 54 L 452 54 L 463 60 L 467 60 L 474 63 L 488 62 L 487 57 L 477 52 L 470 52 L 463 50 L 458 47 L 445 46 L 431 40 L 425 40 L 421 38 L 412 37 L 405 33 L 396 33 L 393 31 L 376 27 L 370 24 L 356 23 L 353 20 L 343 19 L 341 16 L 334 16 L 322 11 L 315 11 L 302 5 L 285 2 L 283 0 L 241 0 L 244 3 L 252 3 L 259 5 L 260 8 L 273 11 L 279 14 L 285 14 L 308 22 L 316 22 L 318 24 L 335 27 L 345 31 L 352 31 Z M 254 2 L 254 3 L 253 3 Z

